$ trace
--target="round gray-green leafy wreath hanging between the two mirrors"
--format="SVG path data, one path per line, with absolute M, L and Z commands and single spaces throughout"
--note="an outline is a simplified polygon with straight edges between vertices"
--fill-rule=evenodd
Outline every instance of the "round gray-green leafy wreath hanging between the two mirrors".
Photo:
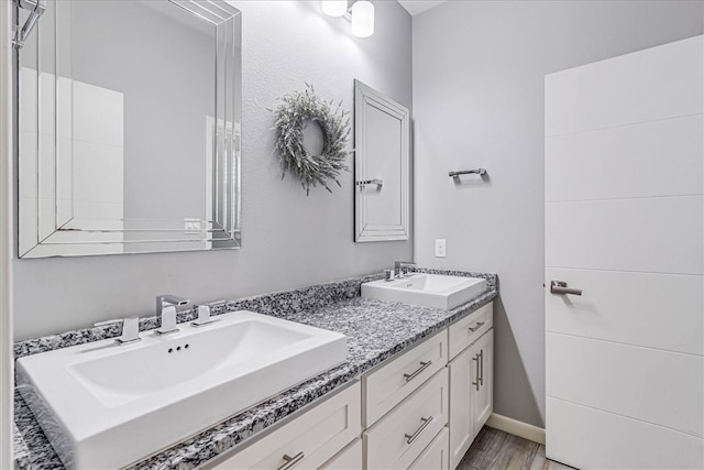
M 350 138 L 350 112 L 342 109 L 342 101 L 336 107 L 316 95 L 312 85 L 306 84 L 306 90 L 293 91 L 279 98 L 279 105 L 273 110 L 276 133 L 275 150 L 284 168 L 300 179 L 306 196 L 310 187 L 328 186 L 329 179 L 338 186 L 340 172 L 348 171 L 345 160 L 346 144 Z M 310 154 L 304 145 L 304 124 L 316 122 L 320 125 L 323 136 L 320 155 Z

